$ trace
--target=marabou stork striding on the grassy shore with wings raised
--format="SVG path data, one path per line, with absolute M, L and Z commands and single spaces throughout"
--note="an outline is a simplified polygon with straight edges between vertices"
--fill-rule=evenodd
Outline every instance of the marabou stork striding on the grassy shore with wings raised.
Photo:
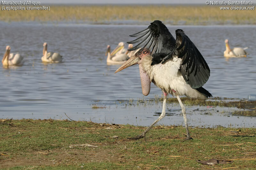
M 168 94 L 177 97 L 182 109 L 187 139 L 192 139 L 189 135 L 186 109 L 179 95 L 200 99 L 212 97 L 212 94 L 202 87 L 210 76 L 210 69 L 203 56 L 181 29 L 176 30 L 175 41 L 167 27 L 158 20 L 152 22 L 147 29 L 130 36 L 139 38 L 127 43 L 139 44 L 129 50 L 141 49 L 116 72 L 139 64 L 143 95 L 149 94 L 152 81 L 163 91 L 164 102 L 159 118 L 142 134 L 129 139 L 136 140 L 145 137 L 148 130 L 165 116 L 165 103 Z

